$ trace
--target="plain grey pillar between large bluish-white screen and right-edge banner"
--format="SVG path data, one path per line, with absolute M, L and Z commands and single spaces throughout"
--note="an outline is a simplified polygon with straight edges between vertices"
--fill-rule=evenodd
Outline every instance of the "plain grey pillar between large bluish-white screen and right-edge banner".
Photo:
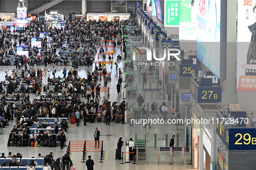
M 220 82 L 223 93 L 236 92 L 237 3 L 227 0 L 227 79 Z

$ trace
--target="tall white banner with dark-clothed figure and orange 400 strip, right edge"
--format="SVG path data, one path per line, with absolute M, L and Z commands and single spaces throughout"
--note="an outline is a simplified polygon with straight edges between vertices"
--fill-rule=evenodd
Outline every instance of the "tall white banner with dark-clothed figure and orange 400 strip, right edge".
M 237 90 L 256 91 L 256 1 L 237 3 Z

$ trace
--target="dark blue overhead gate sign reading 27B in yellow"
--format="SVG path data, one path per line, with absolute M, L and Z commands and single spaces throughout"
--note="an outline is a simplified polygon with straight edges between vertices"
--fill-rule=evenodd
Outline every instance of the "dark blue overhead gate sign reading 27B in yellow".
M 201 87 L 194 79 L 191 79 L 190 81 L 190 93 L 198 103 L 221 102 L 221 90 L 221 87 Z

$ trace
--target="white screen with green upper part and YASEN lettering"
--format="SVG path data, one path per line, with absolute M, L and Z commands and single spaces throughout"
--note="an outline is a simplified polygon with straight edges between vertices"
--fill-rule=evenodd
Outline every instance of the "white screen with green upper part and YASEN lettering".
M 197 40 L 197 1 L 198 0 L 180 0 L 180 40 Z

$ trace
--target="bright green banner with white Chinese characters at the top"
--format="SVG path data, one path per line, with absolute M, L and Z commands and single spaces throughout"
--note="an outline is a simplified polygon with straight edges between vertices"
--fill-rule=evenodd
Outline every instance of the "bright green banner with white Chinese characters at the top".
M 179 17 L 179 0 L 165 0 L 165 27 L 178 27 Z

